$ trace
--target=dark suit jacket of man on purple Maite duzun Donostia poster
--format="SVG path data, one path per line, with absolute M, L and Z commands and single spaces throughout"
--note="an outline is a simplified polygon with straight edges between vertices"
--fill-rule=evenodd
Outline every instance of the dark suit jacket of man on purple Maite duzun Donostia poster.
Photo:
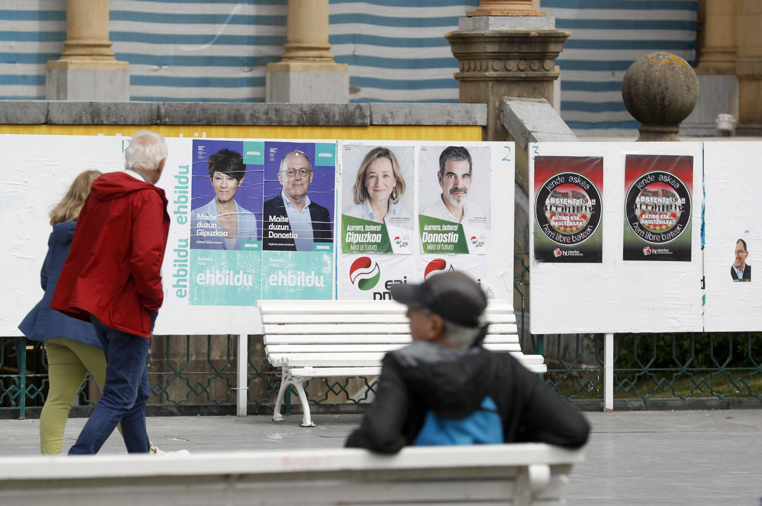
M 312 236 L 313 242 L 333 242 L 333 233 L 331 226 L 331 213 L 321 205 L 310 202 L 309 206 L 309 218 L 312 220 Z M 273 221 L 272 217 L 282 219 L 282 221 Z M 274 227 L 287 226 L 287 229 Z M 278 250 L 278 251 L 296 251 L 296 244 L 292 238 L 289 237 L 268 237 L 269 232 L 273 231 L 277 234 L 287 235 L 291 233 L 291 226 L 288 222 L 288 213 L 286 212 L 286 206 L 283 204 L 283 196 L 278 194 L 277 197 L 271 200 L 266 200 L 262 209 L 262 249 L 263 250 Z

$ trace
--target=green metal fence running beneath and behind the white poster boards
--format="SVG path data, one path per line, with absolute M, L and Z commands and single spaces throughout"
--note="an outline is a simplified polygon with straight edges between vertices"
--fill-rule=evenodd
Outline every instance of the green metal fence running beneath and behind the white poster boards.
M 517 326 L 524 353 L 540 354 L 548 367 L 544 380 L 570 401 L 604 398 L 603 335 L 531 335 L 526 311 L 529 266 L 517 254 L 514 280 Z M 233 409 L 237 399 L 239 350 L 232 335 L 157 336 L 149 354 L 150 405 Z M 248 336 L 247 405 L 271 412 L 280 370 L 267 363 L 264 343 Z M 312 405 L 357 405 L 373 397 L 375 378 L 319 378 L 306 384 Z M 48 390 L 44 347 L 26 338 L 0 338 L 0 417 L 37 415 Z M 283 412 L 291 412 L 291 394 Z M 614 336 L 614 398 L 762 399 L 762 332 L 620 334 Z M 77 405 L 94 405 L 92 378 Z M 346 411 L 346 410 L 345 410 Z M 177 411 L 168 410 L 167 413 Z M 210 412 L 210 411 L 207 411 Z M 219 412 L 219 411 L 218 411 Z

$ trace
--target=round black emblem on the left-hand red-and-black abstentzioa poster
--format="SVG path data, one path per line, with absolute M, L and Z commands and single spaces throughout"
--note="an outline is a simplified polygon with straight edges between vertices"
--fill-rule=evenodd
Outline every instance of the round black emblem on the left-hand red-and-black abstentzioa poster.
M 539 229 L 555 244 L 579 245 L 600 225 L 598 189 L 576 172 L 553 175 L 537 192 L 535 216 Z

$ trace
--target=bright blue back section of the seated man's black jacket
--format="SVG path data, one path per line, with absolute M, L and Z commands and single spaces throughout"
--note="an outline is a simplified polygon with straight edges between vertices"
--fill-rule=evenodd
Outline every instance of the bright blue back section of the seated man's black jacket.
M 426 413 L 421 431 L 413 441 L 413 446 L 501 444 L 503 442 L 503 421 L 498 414 L 498 406 L 490 396 L 486 396 L 475 412 L 459 420 L 441 418 L 430 409 Z

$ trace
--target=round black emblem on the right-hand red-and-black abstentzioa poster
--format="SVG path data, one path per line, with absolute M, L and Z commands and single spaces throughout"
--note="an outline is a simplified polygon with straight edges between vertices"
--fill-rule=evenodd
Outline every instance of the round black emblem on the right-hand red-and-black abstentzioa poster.
M 639 176 L 629 187 L 625 202 L 627 223 L 640 239 L 666 244 L 682 234 L 690 223 L 690 191 L 667 171 Z M 643 250 L 643 255 L 649 255 Z

